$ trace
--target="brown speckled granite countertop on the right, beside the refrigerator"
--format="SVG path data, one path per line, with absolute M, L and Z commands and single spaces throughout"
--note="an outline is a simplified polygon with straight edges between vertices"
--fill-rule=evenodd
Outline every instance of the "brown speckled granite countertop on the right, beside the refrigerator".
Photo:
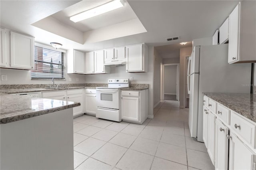
M 256 123 L 256 95 L 242 93 L 203 93 Z

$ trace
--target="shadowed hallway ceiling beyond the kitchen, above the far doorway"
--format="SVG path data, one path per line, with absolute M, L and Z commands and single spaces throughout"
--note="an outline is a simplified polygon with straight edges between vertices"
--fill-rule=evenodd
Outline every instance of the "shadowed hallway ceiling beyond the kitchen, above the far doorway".
M 156 51 L 162 58 L 175 58 L 175 57 L 180 57 L 180 49 L 186 48 L 186 47 L 192 48 L 192 42 L 188 42 L 185 45 L 181 45 L 180 43 L 162 45 L 162 46 L 157 46 L 154 49 L 156 49 Z

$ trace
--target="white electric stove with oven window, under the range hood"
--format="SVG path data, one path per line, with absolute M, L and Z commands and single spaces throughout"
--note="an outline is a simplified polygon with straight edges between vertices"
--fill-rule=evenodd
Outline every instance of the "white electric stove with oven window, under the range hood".
M 108 87 L 96 87 L 96 117 L 121 121 L 121 88 L 130 87 L 129 79 L 109 79 Z

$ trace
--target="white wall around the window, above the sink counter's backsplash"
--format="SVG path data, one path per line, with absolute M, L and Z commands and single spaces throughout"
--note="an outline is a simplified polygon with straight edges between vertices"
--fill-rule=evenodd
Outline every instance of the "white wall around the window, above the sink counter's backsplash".
M 54 49 L 50 45 L 44 45 L 40 43 L 36 43 L 39 47 L 45 47 L 49 49 Z M 57 51 L 62 51 L 66 53 L 66 50 L 57 49 Z M 30 70 L 20 70 L 20 69 L 0 69 L 1 75 L 7 75 L 7 81 L 0 80 L 0 84 L 9 85 L 9 84 L 52 84 L 51 79 L 48 80 L 35 80 L 31 79 L 31 71 Z M 66 84 L 66 83 L 85 83 L 84 81 L 85 75 L 80 74 L 66 74 L 66 80 L 55 80 L 56 84 Z M 69 81 L 71 78 L 71 81 Z M 77 81 L 78 78 L 78 81 Z

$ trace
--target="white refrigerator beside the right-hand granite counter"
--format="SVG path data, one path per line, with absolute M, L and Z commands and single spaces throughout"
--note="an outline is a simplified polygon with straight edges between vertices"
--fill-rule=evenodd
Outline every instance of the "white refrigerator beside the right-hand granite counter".
M 250 93 L 251 64 L 228 64 L 228 44 L 195 46 L 188 61 L 191 137 L 203 142 L 203 94 Z

